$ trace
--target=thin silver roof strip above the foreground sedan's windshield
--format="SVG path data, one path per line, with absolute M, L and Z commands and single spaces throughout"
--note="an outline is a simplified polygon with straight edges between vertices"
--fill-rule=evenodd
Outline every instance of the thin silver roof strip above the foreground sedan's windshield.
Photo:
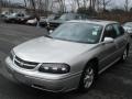
M 100 25 L 108 25 L 112 23 L 118 23 L 116 21 L 105 21 L 105 20 L 72 20 L 68 22 L 76 22 L 76 23 L 94 23 L 94 24 L 100 24 Z

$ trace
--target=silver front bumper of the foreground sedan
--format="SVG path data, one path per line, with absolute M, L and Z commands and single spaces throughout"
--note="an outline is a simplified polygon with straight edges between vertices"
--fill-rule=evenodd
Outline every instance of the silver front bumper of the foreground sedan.
M 81 73 L 74 75 L 44 74 L 18 67 L 10 57 L 6 59 L 7 69 L 19 82 L 53 92 L 66 92 L 78 87 Z

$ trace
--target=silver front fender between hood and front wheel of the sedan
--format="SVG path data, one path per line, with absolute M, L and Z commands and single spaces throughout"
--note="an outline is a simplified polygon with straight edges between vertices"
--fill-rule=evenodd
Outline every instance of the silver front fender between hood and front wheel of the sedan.
M 95 46 L 86 52 L 81 53 L 80 55 L 76 56 L 75 58 L 70 59 L 68 64 L 72 66 L 70 73 L 81 73 L 84 68 L 87 66 L 87 63 L 94 58 L 98 58 L 98 61 L 102 57 L 101 56 L 102 45 L 95 44 Z

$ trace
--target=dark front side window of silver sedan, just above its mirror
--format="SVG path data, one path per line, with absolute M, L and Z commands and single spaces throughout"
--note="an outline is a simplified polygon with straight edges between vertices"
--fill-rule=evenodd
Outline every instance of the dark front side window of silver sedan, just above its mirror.
M 106 26 L 106 30 L 105 30 L 105 33 L 103 33 L 103 38 L 105 37 L 112 37 L 112 38 L 117 37 L 117 32 L 116 32 L 116 30 L 113 29 L 112 25 Z

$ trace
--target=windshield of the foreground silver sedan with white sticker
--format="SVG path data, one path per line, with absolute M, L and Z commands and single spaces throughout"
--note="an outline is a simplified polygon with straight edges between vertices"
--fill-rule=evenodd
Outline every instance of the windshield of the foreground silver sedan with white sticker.
M 65 23 L 50 36 L 57 40 L 95 44 L 99 42 L 102 25 L 91 23 Z

